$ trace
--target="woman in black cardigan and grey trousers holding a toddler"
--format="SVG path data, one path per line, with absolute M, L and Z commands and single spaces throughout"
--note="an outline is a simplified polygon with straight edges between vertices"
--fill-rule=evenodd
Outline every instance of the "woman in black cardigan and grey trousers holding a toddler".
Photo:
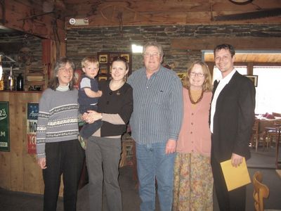
M 90 210 L 102 210 L 103 184 L 107 210 L 122 210 L 119 187 L 121 136 L 126 131 L 133 111 L 133 90 L 124 80 L 129 72 L 125 58 L 112 60 L 110 82 L 99 84 L 103 95 L 98 99 L 98 112 L 83 115 L 87 123 L 102 120 L 102 126 L 87 140 L 86 162 L 89 174 Z

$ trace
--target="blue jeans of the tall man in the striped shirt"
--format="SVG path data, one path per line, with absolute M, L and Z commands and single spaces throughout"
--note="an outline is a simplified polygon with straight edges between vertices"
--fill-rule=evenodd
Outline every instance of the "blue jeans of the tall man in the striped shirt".
M 171 210 L 175 153 L 166 155 L 165 148 L 166 143 L 136 143 L 141 211 L 155 210 L 155 178 L 160 209 Z

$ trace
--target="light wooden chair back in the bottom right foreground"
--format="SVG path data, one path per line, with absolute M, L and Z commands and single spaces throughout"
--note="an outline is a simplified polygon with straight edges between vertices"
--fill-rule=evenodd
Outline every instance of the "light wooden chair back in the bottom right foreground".
M 263 211 L 263 198 L 268 198 L 269 196 L 269 188 L 265 184 L 262 184 L 263 176 L 261 172 L 255 172 L 253 176 L 253 184 L 254 184 L 254 208 L 256 211 Z

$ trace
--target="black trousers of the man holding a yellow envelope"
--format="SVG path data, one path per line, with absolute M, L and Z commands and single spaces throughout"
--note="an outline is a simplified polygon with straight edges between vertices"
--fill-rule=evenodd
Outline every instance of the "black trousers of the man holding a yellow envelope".
M 228 191 L 226 181 L 223 177 L 221 164 L 216 158 L 211 156 L 211 168 L 214 177 L 214 187 L 216 188 L 216 197 L 221 211 L 243 211 L 246 205 L 246 186 Z

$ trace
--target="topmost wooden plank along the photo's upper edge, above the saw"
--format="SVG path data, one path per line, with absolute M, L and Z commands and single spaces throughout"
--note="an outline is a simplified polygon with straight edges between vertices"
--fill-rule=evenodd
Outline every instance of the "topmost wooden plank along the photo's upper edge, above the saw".
M 67 8 L 78 11 L 79 14 L 85 14 L 91 9 L 100 11 L 105 6 L 123 6 L 130 8 L 140 13 L 145 12 L 202 12 L 210 11 L 210 6 L 213 11 L 259 11 L 261 8 L 276 8 L 280 7 L 278 0 L 255 0 L 252 4 L 237 5 L 227 0 L 185 0 L 185 1 L 163 1 L 163 0 L 141 0 L 141 1 L 79 1 L 79 0 L 66 0 Z

